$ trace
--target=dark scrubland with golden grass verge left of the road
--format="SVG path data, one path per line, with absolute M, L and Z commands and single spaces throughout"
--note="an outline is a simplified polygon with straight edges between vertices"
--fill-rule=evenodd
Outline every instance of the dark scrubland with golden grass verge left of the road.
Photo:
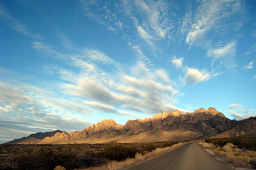
M 115 164 L 118 167 L 134 164 L 180 145 L 178 143 L 1 144 L 0 169 L 73 170 L 100 166 L 115 169 Z

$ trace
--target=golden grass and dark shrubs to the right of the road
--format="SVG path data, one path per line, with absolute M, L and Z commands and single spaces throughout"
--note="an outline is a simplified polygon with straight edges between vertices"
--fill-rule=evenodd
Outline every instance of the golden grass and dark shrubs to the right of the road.
M 235 145 L 232 141 L 236 141 Z M 199 142 L 205 149 L 210 149 L 216 156 L 223 157 L 228 163 L 235 164 L 241 168 L 256 168 L 256 151 L 247 141 L 233 139 L 209 139 Z M 251 148 L 252 150 L 248 150 Z

